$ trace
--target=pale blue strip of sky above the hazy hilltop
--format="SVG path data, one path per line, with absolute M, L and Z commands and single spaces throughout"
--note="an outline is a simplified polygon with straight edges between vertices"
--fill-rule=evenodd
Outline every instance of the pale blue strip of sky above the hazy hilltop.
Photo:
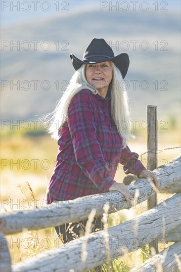
M 1 0 L 0 1 L 0 24 L 1 26 L 6 26 L 9 24 L 25 22 L 32 19 L 40 19 L 45 17 L 50 17 L 57 12 L 65 15 L 66 11 L 76 11 L 80 8 L 89 8 L 93 5 L 106 5 L 109 2 L 115 4 L 119 2 L 122 4 L 123 9 L 127 6 L 130 8 L 135 2 L 135 6 L 142 4 L 142 7 L 146 4 L 149 5 L 150 9 L 155 9 L 156 5 L 158 8 L 167 8 L 180 10 L 181 1 L 180 0 L 127 0 L 127 1 L 100 1 L 100 0 Z M 145 3 L 144 3 L 145 2 Z

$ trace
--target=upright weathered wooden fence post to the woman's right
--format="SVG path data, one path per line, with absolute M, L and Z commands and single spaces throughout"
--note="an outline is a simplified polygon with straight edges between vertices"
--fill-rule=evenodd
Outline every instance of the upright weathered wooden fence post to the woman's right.
M 147 169 L 157 168 L 157 114 L 156 106 L 147 105 Z M 148 210 L 157 205 L 157 194 L 155 193 L 148 199 Z M 149 253 L 153 256 L 152 248 L 158 253 L 158 241 L 149 243 Z

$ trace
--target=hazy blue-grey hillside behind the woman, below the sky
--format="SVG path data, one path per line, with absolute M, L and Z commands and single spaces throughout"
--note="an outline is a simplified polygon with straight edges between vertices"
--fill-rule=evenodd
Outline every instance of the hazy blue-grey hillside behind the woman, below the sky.
M 130 56 L 132 119 L 145 119 L 147 104 L 157 105 L 159 118 L 179 116 L 179 12 L 92 8 L 1 28 L 1 119 L 35 120 L 52 111 L 74 73 L 70 53 L 82 58 L 94 37 Z

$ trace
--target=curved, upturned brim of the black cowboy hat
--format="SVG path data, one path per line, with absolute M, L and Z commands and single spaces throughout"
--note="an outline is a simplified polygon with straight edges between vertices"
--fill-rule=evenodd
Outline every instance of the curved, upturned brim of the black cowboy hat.
M 97 56 L 92 56 L 89 59 L 85 59 L 85 60 L 80 60 L 79 58 L 77 58 L 75 55 L 71 53 L 70 58 L 72 59 L 72 65 L 76 71 L 83 64 L 100 63 L 100 62 L 111 60 L 120 70 L 123 79 L 125 78 L 128 72 L 129 65 L 130 65 L 130 60 L 127 53 L 121 53 L 113 58 L 97 55 Z

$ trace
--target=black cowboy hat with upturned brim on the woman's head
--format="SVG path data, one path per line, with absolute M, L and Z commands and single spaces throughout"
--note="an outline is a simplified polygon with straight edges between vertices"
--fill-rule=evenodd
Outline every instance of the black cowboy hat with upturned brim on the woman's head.
M 128 54 L 121 53 L 115 57 L 112 48 L 105 42 L 105 40 L 96 38 L 94 38 L 87 46 L 83 55 L 83 60 L 80 60 L 72 53 L 70 54 L 70 57 L 72 59 L 72 65 L 76 71 L 83 64 L 99 63 L 111 60 L 119 68 L 123 79 L 127 74 L 130 64 Z

